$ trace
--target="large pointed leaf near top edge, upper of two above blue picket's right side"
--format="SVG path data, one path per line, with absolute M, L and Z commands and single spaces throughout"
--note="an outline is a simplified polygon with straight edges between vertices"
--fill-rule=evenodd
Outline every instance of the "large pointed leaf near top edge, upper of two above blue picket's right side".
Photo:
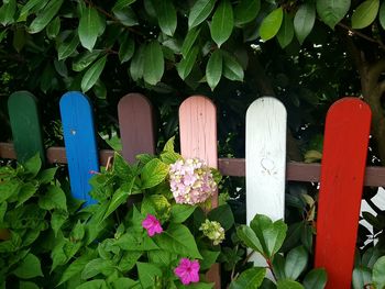
M 92 51 L 99 35 L 102 34 L 105 25 L 95 8 L 86 8 L 79 21 L 78 34 L 82 47 Z

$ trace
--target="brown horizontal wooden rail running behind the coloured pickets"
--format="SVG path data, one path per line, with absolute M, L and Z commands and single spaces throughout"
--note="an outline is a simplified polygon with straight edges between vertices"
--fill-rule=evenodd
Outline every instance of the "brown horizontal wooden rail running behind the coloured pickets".
M 66 152 L 64 147 L 50 147 L 46 151 L 47 162 L 50 164 L 66 164 Z M 113 151 L 101 149 L 99 152 L 100 163 L 107 164 L 109 157 L 113 156 Z M 0 143 L 0 158 L 16 158 L 13 145 L 11 143 Z M 223 176 L 244 177 L 244 158 L 219 158 L 218 168 Z M 321 165 L 306 163 L 287 163 L 286 179 L 295 181 L 319 181 Z M 366 167 L 365 186 L 385 187 L 385 167 Z

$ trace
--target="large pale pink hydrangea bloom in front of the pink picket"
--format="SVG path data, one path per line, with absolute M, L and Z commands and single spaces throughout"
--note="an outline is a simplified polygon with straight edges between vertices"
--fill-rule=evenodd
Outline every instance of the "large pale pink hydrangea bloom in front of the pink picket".
M 169 185 L 175 201 L 187 204 L 205 202 L 217 189 L 210 168 L 198 158 L 170 165 Z

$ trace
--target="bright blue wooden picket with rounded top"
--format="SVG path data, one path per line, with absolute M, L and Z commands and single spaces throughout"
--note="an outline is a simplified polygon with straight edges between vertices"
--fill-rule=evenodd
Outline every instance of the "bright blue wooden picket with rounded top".
M 99 160 L 91 103 L 85 95 L 69 91 L 61 99 L 61 114 L 72 193 L 94 203 L 88 181 L 99 171 Z

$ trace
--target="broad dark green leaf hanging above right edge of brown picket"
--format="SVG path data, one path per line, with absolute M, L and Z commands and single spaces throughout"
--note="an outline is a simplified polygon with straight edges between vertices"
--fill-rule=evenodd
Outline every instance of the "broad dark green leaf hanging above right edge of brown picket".
M 161 44 L 153 41 L 144 49 L 143 79 L 148 85 L 155 86 L 164 74 L 164 58 Z

